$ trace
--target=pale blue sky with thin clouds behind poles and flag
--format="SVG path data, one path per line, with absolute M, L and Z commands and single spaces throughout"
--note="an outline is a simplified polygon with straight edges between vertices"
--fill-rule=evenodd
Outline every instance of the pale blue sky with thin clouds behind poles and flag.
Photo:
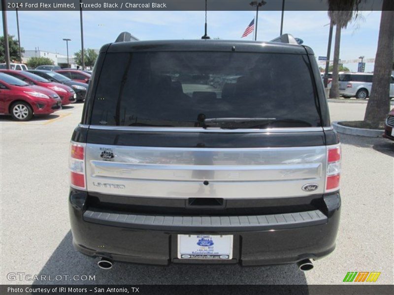
M 359 56 L 375 58 L 380 11 L 363 11 L 356 23 L 342 30 L 340 59 Z M 221 39 L 240 39 L 254 18 L 252 11 L 208 11 L 208 35 Z M 14 11 L 7 12 L 8 32 L 17 35 Z M 258 40 L 271 40 L 279 35 L 281 11 L 260 11 Z M 285 11 L 284 32 L 304 40 L 316 56 L 326 56 L 329 26 L 327 11 Z M 84 11 L 85 48 L 99 49 L 113 42 L 122 31 L 130 31 L 141 40 L 197 39 L 203 35 L 203 11 Z M 21 45 L 26 50 L 66 54 L 63 38 L 70 38 L 69 52 L 81 46 L 79 12 L 19 11 Z M 1 28 L 2 32 L 2 28 Z M 252 39 L 252 34 L 244 39 Z M 331 59 L 333 47 L 331 52 Z M 357 64 L 346 64 L 357 70 Z M 372 64 L 366 71 L 373 70 Z

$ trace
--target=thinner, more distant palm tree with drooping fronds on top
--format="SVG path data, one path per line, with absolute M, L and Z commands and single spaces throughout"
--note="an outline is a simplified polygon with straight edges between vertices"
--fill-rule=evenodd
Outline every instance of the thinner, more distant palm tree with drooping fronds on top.
M 349 22 L 352 20 L 354 10 L 356 11 L 355 18 L 357 18 L 360 2 L 361 0 L 328 0 L 328 16 L 335 25 L 332 82 L 331 89 L 329 91 L 330 98 L 339 97 L 338 66 L 341 29 L 346 28 Z

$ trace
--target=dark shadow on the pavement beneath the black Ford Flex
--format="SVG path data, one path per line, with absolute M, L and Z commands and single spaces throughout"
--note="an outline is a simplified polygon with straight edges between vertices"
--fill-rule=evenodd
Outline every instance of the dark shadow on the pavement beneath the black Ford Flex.
M 305 275 L 296 264 L 279 266 L 240 267 L 238 265 L 177 265 L 146 266 L 114 263 L 110 270 L 97 266 L 98 258 L 87 257 L 72 247 L 69 231 L 53 252 L 40 275 L 68 275 L 67 280 L 35 281 L 40 284 L 244 284 L 244 285 L 304 285 Z M 95 276 L 95 280 L 72 280 L 74 275 Z M 60 278 L 60 277 L 59 277 Z M 71 279 L 70 279 L 71 278 Z M 82 278 L 82 277 L 81 277 Z M 302 287 L 303 288 L 303 287 Z

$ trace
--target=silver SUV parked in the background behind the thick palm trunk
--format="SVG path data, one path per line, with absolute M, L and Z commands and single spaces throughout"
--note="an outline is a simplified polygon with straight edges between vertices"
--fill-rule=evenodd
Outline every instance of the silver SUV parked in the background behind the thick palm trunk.
M 372 73 L 344 73 L 339 75 L 339 94 L 344 98 L 369 97 L 372 88 Z M 394 77 L 391 77 L 390 97 L 394 97 Z

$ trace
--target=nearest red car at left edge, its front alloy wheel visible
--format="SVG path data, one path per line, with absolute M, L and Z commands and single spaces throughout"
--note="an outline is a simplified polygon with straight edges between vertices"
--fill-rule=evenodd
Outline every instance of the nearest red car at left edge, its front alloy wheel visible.
M 33 115 L 47 115 L 61 108 L 62 101 L 55 91 L 0 73 L 0 114 L 28 121 Z

